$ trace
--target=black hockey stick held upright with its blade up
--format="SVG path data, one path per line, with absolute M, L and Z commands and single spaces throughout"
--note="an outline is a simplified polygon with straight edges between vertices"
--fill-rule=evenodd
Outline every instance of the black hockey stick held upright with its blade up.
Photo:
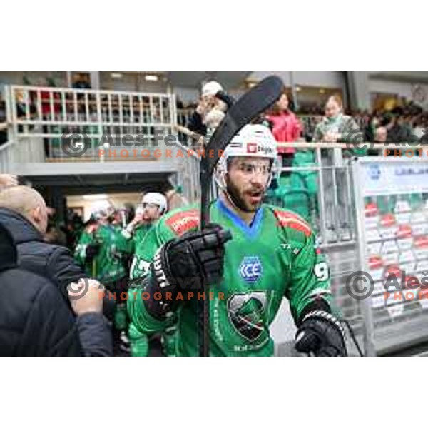
M 215 165 L 221 153 L 232 138 L 247 123 L 253 121 L 260 113 L 272 106 L 282 93 L 284 83 L 277 76 L 269 76 L 254 86 L 233 104 L 223 121 L 213 133 L 205 153 L 213 156 L 202 156 L 200 160 L 200 228 L 209 223 L 210 184 Z M 199 355 L 209 356 L 210 307 L 208 301 L 208 284 L 205 285 L 205 298 L 197 302 Z

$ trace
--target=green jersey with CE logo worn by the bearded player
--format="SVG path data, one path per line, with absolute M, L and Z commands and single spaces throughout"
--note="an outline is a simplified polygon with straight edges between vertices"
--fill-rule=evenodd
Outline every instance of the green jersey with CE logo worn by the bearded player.
M 175 210 L 165 215 L 146 235 L 141 267 L 148 267 L 156 250 L 199 224 L 198 208 Z M 210 355 L 270 356 L 274 344 L 269 326 L 282 297 L 290 300 L 297 319 L 317 299 L 330 303 L 329 270 L 315 243 L 310 226 L 298 215 L 282 208 L 262 205 L 250 226 L 221 200 L 210 206 L 210 221 L 230 230 L 225 244 L 223 281 L 206 295 L 183 301 L 176 312 L 176 355 L 198 355 L 196 305 L 210 301 Z M 184 293 L 183 293 L 184 294 Z M 131 330 L 150 333 L 168 327 L 152 317 L 144 305 L 144 290 L 130 290 L 128 315 Z

